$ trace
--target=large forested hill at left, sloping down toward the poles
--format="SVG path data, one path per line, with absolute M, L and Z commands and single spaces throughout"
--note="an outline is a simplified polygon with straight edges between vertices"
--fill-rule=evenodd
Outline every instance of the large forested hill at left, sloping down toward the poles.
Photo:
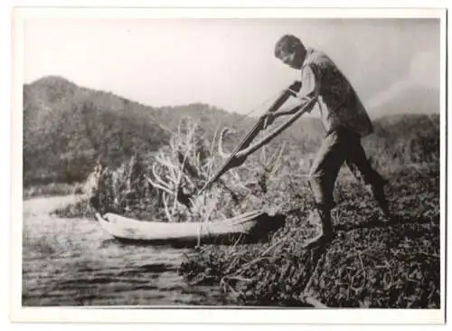
M 186 116 L 205 128 L 241 118 L 205 104 L 152 108 L 61 77 L 25 84 L 24 184 L 80 181 L 98 160 L 156 151 Z

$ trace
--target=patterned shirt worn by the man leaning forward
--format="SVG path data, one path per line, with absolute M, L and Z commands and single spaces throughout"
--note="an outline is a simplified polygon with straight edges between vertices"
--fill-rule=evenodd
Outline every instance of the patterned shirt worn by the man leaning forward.
M 361 137 L 373 132 L 372 122 L 350 82 L 325 53 L 306 49 L 301 68 L 301 96 L 317 91 L 318 109 L 327 132 L 351 128 Z

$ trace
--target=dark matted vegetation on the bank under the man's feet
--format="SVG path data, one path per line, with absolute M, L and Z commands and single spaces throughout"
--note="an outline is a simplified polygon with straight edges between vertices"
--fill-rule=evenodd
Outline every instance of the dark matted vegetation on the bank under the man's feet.
M 218 284 L 240 305 L 304 306 L 314 297 L 328 307 L 438 308 L 438 168 L 385 175 L 392 220 L 361 184 L 341 177 L 337 236 L 306 250 L 304 241 L 318 232 L 306 222 L 312 201 L 306 182 L 287 178 L 287 223 L 270 241 L 210 246 L 186 256 L 180 272 L 194 284 Z

